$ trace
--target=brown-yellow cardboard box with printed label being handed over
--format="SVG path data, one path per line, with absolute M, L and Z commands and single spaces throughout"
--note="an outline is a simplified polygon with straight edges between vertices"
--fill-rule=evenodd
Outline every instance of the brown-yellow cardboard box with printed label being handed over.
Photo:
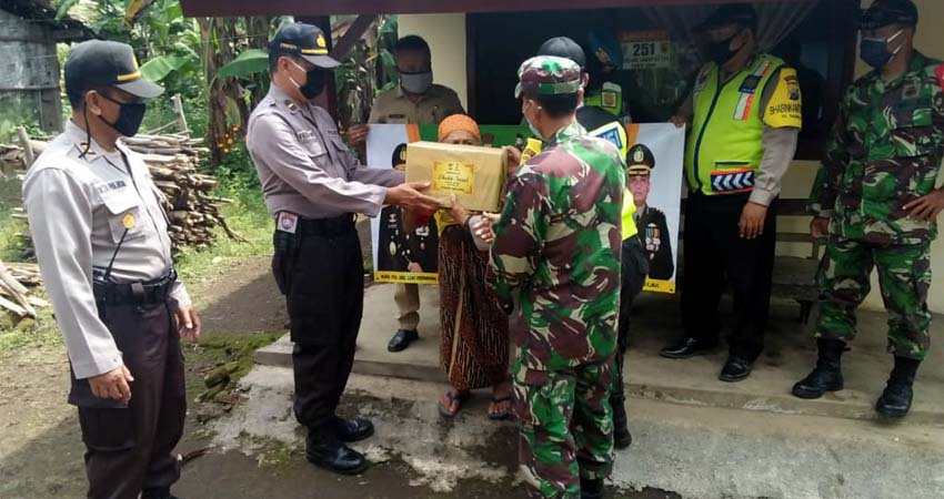
M 406 145 L 406 182 L 430 182 L 430 195 L 465 210 L 495 212 L 508 174 L 508 154 L 499 147 L 411 142 Z

